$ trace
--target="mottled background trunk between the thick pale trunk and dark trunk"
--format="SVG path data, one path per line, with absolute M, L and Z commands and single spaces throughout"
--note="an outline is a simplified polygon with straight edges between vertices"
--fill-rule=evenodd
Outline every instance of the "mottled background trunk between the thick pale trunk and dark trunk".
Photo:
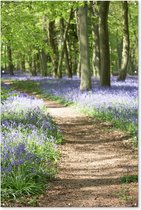
M 92 20 L 92 32 L 94 38 L 92 65 L 93 65 L 93 75 L 95 77 L 100 76 L 100 44 L 99 44 L 99 23 L 98 23 L 99 14 L 97 7 L 98 7 L 97 2 L 90 1 L 90 12 L 92 17 L 95 17 L 95 19 Z

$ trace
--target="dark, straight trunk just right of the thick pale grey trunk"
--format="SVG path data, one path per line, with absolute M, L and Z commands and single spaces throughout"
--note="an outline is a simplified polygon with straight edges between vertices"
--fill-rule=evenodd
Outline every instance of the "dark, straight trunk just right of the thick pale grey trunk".
M 109 1 L 100 3 L 100 84 L 101 86 L 110 86 L 110 50 L 109 50 L 109 33 L 108 33 L 108 12 Z

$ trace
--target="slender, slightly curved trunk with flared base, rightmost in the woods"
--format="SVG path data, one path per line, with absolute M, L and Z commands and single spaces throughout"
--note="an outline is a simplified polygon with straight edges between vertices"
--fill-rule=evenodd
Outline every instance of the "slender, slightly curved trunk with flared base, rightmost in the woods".
M 123 49 L 122 61 L 118 80 L 125 81 L 127 75 L 127 66 L 129 60 L 129 31 L 128 31 L 128 3 L 122 2 L 123 8 Z

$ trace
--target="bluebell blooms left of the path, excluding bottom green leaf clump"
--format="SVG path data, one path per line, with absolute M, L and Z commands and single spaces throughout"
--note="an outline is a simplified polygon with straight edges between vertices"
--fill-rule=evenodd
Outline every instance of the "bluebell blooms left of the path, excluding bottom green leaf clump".
M 44 109 L 43 100 L 25 93 L 9 92 L 1 107 L 2 178 L 10 173 L 25 173 L 34 170 L 48 174 L 46 163 L 58 156 L 55 141 L 58 127 Z M 24 175 L 23 175 L 24 176 Z

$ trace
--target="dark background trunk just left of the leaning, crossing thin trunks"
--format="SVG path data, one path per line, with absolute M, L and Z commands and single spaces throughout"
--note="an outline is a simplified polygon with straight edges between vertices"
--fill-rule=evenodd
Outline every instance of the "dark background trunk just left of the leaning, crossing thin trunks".
M 51 60 L 53 64 L 53 76 L 55 78 L 58 77 L 58 60 L 59 60 L 59 53 L 58 53 L 58 43 L 56 40 L 56 31 L 55 31 L 55 21 L 50 21 L 48 25 L 48 34 L 49 34 L 49 43 L 52 48 L 53 54 L 51 55 Z

